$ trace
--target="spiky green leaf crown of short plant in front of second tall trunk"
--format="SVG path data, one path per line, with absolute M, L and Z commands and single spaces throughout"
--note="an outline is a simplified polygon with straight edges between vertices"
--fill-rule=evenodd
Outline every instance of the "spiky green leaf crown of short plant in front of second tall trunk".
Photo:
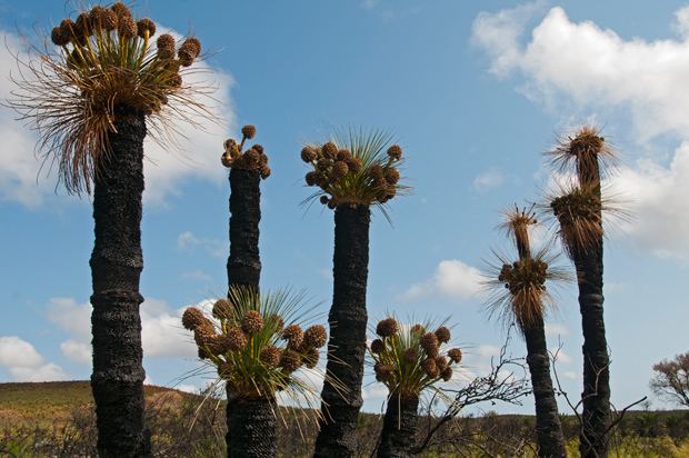
M 182 323 L 194 332 L 200 352 L 217 368 L 233 398 L 272 399 L 280 392 L 297 402 L 311 402 L 313 387 L 298 370 L 316 367 L 326 329 L 313 325 L 299 345 L 293 345 L 296 321 L 304 318 L 302 301 L 302 293 L 279 290 L 259 295 L 252 288 L 237 287 L 228 299 L 216 302 L 212 317 L 189 308 Z

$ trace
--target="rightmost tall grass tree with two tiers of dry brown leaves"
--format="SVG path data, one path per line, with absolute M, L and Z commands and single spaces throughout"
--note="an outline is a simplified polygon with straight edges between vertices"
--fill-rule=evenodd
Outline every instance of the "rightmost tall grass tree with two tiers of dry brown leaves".
M 596 129 L 583 127 L 551 152 L 559 171 L 575 172 L 577 183 L 549 198 L 565 251 L 572 259 L 579 285 L 583 331 L 582 457 L 608 454 L 610 425 L 610 359 L 603 319 L 603 218 L 611 210 L 601 192 L 601 175 L 613 153 Z

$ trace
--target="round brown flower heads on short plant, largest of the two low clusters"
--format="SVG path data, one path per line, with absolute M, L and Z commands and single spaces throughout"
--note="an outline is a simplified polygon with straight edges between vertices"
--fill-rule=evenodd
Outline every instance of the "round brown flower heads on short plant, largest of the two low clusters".
M 257 295 L 219 299 L 212 308 L 214 320 L 197 307 L 182 315 L 182 325 L 193 331 L 199 358 L 213 364 L 237 396 L 272 396 L 288 388 L 301 366 L 317 366 L 327 341 L 323 326 L 306 330 L 297 323 L 284 326 L 282 316 L 261 307 L 261 301 Z

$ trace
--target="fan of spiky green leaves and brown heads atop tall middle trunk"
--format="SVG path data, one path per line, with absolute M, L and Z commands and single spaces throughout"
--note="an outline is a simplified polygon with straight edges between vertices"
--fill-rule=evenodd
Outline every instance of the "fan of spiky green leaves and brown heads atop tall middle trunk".
M 301 159 L 309 166 L 306 183 L 319 188 L 304 202 L 385 205 L 409 188 L 400 183 L 402 150 L 379 130 L 336 132 L 322 145 L 307 145 Z

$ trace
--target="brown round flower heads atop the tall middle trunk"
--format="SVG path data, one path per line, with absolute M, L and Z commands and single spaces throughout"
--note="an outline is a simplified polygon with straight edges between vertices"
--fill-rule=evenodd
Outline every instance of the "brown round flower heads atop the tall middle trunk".
M 320 188 L 319 200 L 330 209 L 348 203 L 386 203 L 400 189 L 397 166 L 402 149 L 398 145 L 389 147 L 385 157 L 371 153 L 367 143 L 355 146 L 353 152 L 333 141 L 301 150 L 301 160 L 311 167 L 306 183 Z

